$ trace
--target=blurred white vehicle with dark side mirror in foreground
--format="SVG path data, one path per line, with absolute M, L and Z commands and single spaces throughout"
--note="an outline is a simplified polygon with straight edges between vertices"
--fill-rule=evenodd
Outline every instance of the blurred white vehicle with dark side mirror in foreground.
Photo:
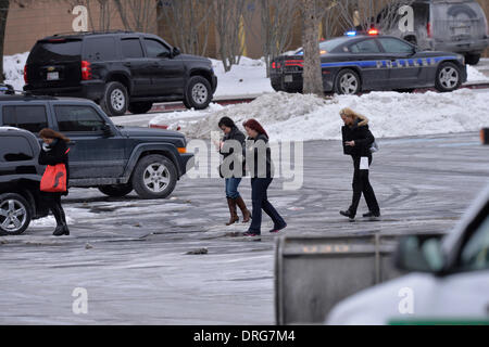
M 410 273 L 340 301 L 326 323 L 489 324 L 489 187 L 441 241 L 403 240 L 396 264 Z

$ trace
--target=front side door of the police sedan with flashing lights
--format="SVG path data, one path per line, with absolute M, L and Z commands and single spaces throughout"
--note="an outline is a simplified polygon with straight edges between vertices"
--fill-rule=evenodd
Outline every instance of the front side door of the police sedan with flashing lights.
M 416 59 L 413 46 L 393 37 L 378 38 L 389 66 L 391 89 L 414 88 L 419 86 L 423 67 Z

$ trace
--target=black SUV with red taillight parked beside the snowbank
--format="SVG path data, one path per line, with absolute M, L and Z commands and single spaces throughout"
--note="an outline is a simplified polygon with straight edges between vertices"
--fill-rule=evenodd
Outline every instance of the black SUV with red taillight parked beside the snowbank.
M 37 41 L 24 69 L 25 91 L 90 99 L 110 116 L 147 113 L 153 102 L 208 107 L 217 87 L 209 59 L 180 54 L 141 33 L 54 35 Z

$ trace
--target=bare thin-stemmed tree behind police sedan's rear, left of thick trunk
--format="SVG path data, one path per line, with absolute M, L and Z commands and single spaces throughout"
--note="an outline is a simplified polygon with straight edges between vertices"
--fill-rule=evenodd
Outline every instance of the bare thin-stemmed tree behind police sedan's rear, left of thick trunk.
M 269 77 L 269 62 L 290 44 L 294 18 L 299 10 L 296 0 L 260 0 L 261 39 Z

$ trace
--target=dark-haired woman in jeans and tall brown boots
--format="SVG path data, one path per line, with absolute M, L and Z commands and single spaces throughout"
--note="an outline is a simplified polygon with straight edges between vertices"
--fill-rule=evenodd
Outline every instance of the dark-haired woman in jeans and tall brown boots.
M 240 150 L 238 153 L 235 153 L 235 150 L 233 149 L 234 145 L 239 145 L 242 149 L 242 146 L 244 146 L 246 138 L 229 117 L 221 118 L 218 127 L 223 130 L 224 138 L 220 143 L 217 143 L 217 146 L 220 153 L 224 157 L 223 164 L 226 164 L 220 166 L 220 174 L 225 179 L 227 206 L 229 207 L 230 214 L 229 221 L 226 226 L 231 226 L 239 221 L 236 206 L 238 206 L 241 210 L 242 222 L 247 223 L 250 221 L 251 214 L 238 192 L 239 183 L 241 183 L 241 178 L 244 176 L 244 160 L 242 159 L 242 151 Z M 235 142 L 233 143 L 233 141 Z M 235 167 L 235 162 L 242 164 L 238 168 Z

